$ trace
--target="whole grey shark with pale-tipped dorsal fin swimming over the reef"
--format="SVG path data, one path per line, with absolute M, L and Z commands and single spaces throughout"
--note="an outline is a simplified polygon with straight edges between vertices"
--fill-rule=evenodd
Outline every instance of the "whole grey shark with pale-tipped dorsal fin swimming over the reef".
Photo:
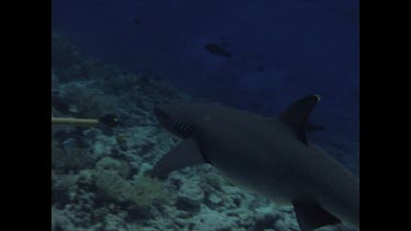
M 306 139 L 318 95 L 309 95 L 278 117 L 215 104 L 159 106 L 165 129 L 183 138 L 153 168 L 155 177 L 210 163 L 240 187 L 279 205 L 293 205 L 302 231 L 343 222 L 359 230 L 359 180 Z

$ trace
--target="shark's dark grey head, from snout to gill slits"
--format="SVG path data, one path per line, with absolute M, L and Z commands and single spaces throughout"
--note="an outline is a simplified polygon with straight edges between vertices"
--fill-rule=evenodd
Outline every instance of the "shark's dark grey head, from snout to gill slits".
M 165 104 L 157 106 L 155 114 L 159 124 L 171 134 L 186 139 L 193 132 L 193 113 L 190 104 Z

